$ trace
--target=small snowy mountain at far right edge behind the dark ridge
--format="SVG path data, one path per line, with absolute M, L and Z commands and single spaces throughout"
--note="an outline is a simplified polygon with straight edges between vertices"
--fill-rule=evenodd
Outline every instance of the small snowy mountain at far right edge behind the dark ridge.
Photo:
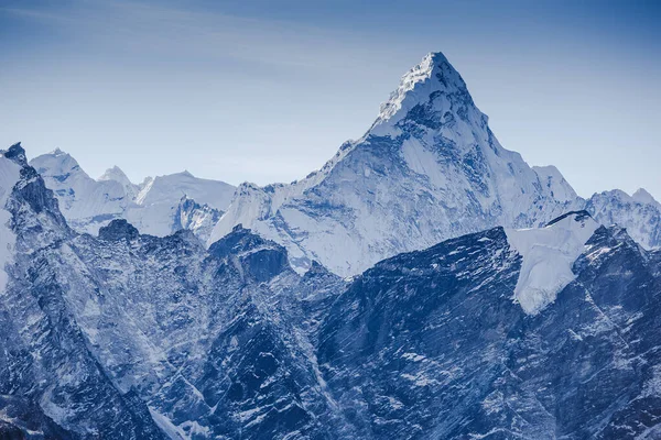
M 619 189 L 595 194 L 585 209 L 603 224 L 626 228 L 643 248 L 661 248 L 661 204 L 644 189 L 632 196 Z

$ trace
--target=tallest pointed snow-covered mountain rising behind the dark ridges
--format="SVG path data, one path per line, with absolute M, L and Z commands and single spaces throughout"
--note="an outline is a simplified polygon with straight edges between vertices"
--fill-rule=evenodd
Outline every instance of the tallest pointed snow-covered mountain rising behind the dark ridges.
M 407 73 L 358 141 L 290 185 L 243 184 L 209 243 L 243 224 L 355 275 L 379 260 L 495 226 L 542 226 L 583 206 L 553 167 L 505 150 L 466 84 L 440 53 Z

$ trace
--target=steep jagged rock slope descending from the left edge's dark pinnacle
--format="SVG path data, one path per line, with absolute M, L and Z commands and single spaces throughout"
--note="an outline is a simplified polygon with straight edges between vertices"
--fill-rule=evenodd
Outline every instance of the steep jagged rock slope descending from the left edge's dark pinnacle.
M 13 145 L 0 152 L 20 169 L 2 210 L 14 237 L 0 289 L 0 432 L 17 438 L 162 439 L 148 408 L 120 393 L 87 346 L 54 258 L 74 234 L 41 176 Z M 7 189 L 7 188 L 3 188 Z M 3 233 L 4 234 L 4 233 Z

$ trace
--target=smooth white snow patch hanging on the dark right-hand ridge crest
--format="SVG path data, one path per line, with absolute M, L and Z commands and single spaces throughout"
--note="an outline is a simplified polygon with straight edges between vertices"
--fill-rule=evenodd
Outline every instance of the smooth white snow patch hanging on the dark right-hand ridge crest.
M 507 230 L 507 239 L 522 257 L 514 300 L 537 315 L 576 277 L 572 266 L 599 224 L 585 211 L 568 212 L 545 228 Z

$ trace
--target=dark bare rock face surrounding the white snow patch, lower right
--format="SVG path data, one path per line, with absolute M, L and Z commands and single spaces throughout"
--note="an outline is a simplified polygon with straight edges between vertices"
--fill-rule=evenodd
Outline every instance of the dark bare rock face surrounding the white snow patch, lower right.
M 524 260 L 524 258 L 523 258 Z M 333 305 L 318 362 L 357 438 L 657 438 L 659 266 L 596 230 L 530 315 L 498 228 L 398 255 Z

